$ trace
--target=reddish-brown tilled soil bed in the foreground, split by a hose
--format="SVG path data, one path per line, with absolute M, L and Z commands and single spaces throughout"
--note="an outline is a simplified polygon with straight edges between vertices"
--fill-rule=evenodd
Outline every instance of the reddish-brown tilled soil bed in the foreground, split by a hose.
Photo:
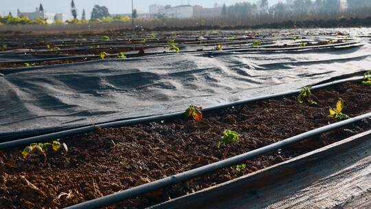
M 176 119 L 97 129 L 62 139 L 69 153 L 48 153 L 45 165 L 43 157 L 23 159 L 23 147 L 0 151 L 0 208 L 63 208 L 217 162 L 226 151 L 227 157 L 245 153 L 335 122 L 328 107 L 338 98 L 344 99 L 344 113 L 350 117 L 371 110 L 371 88 L 359 83 L 313 94 L 318 107 L 283 98 L 207 112 L 201 122 Z M 369 130 L 370 124 L 370 119 L 363 120 L 244 162 L 245 170 L 224 168 L 110 208 L 144 208 L 201 190 Z M 217 148 L 225 129 L 240 133 L 240 141 Z

